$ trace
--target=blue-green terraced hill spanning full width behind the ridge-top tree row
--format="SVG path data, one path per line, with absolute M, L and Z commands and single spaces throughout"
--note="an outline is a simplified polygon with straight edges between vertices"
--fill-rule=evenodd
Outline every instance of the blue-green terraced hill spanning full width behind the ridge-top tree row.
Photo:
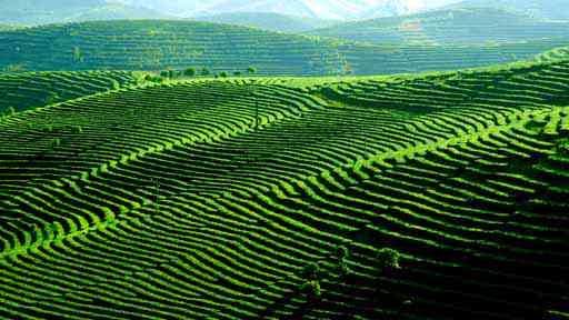
M 368 46 L 227 24 L 111 21 L 0 32 L 0 70 L 182 70 L 259 74 L 381 74 L 529 59 L 569 38 L 477 46 Z

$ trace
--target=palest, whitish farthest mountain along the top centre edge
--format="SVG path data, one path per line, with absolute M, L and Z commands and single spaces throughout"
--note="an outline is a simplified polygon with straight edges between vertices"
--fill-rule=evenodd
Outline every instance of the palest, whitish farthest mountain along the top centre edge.
M 181 17 L 272 12 L 319 19 L 359 19 L 417 12 L 459 0 L 116 0 Z

